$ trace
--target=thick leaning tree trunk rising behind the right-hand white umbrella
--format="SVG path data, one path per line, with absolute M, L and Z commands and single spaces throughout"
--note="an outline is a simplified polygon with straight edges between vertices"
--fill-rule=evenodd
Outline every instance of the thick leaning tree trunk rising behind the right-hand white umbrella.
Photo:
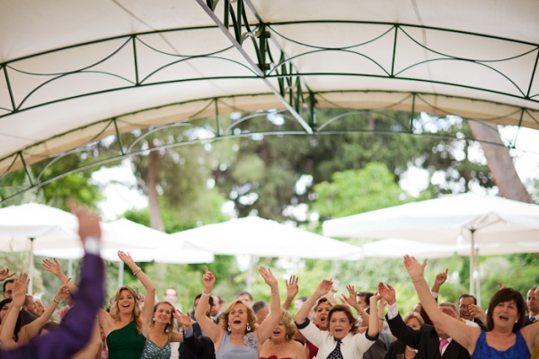
M 477 140 L 503 144 L 499 137 L 498 125 L 480 121 L 468 121 L 468 124 L 470 124 L 473 136 Z M 534 203 L 522 181 L 518 178 L 513 159 L 509 156 L 509 149 L 492 144 L 480 144 L 501 197 Z

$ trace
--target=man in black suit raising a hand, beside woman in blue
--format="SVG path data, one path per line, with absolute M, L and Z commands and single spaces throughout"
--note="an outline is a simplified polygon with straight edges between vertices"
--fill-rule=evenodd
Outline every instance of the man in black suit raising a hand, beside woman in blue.
M 423 324 L 419 330 L 406 326 L 401 314 L 399 314 L 395 291 L 391 285 L 386 287 L 380 284 L 378 293 L 389 304 L 385 318 L 393 336 L 407 346 L 418 349 L 418 355 L 415 359 L 470 359 L 470 354 L 464 346 L 447 336 L 443 330 L 429 324 Z M 447 320 L 452 319 L 447 317 Z

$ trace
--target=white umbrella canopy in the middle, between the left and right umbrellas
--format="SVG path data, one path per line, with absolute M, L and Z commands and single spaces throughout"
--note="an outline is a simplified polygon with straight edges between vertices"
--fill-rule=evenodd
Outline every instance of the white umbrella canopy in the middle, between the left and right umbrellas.
M 249 216 L 177 232 L 172 238 L 214 254 L 259 257 L 358 259 L 361 249 L 274 221 Z

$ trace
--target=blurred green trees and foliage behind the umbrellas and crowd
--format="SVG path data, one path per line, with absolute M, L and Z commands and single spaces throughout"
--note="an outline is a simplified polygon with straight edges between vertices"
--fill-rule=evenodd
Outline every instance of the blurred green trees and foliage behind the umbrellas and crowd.
M 356 128 L 357 131 L 331 136 L 253 134 L 251 137 L 202 141 L 158 150 L 155 188 L 164 231 L 179 232 L 224 222 L 230 216 L 259 215 L 321 232 L 321 223 L 326 219 L 447 193 L 464 193 L 473 186 L 496 193 L 488 166 L 471 155 L 473 151 L 481 152 L 481 148 L 473 141 L 457 139 L 473 137 L 464 119 L 429 118 L 422 114 L 415 120 L 436 126 L 431 130 L 436 136 L 416 136 L 417 133 L 402 134 L 411 117 L 408 112 L 353 113 L 339 121 L 330 121 L 341 112 L 341 109 L 319 109 L 317 121 L 319 125 L 329 121 L 328 128 L 335 130 L 342 127 Z M 292 126 L 286 117 L 276 120 L 278 115 L 270 115 L 243 121 L 238 127 L 242 131 L 262 132 Z M 203 124 L 205 120 L 210 122 L 213 118 L 198 121 Z M 148 134 L 137 130 L 123 134 L 122 142 L 138 141 L 141 147 L 150 148 L 165 144 L 171 138 L 197 136 L 197 131 L 199 129 L 193 127 L 173 127 Z M 100 145 L 103 149 L 118 147 L 116 139 L 103 141 Z M 137 176 L 137 190 L 145 195 L 148 194 L 148 176 L 152 171 L 149 157 L 145 153 L 130 159 L 133 173 Z M 63 171 L 62 165 L 72 168 L 84 164 L 85 159 L 82 155 L 70 156 L 68 162 L 55 164 L 54 170 L 46 168 L 45 164 L 33 165 L 32 169 L 37 173 L 45 171 L 49 176 L 48 171 Z M 108 166 L 117 164 L 111 162 Z M 427 171 L 430 179 L 428 186 L 414 196 L 400 186 L 403 174 L 411 167 Z M 67 199 L 74 197 L 82 205 L 95 210 L 104 199 L 102 185 L 92 180 L 93 171 L 98 170 L 93 168 L 70 174 L 14 198 L 7 206 L 36 201 L 66 209 Z M 434 177 L 438 180 L 432 180 Z M 25 178 L 13 174 L 9 180 L 13 180 L 15 186 Z M 537 201 L 539 180 L 528 184 L 528 188 L 532 188 L 530 194 Z M 121 216 L 149 225 L 150 212 L 150 208 L 131 209 Z M 256 241 L 256 233 L 253 233 L 253 241 Z M 343 241 L 361 245 L 368 240 Z M 42 259 L 34 260 L 38 270 L 32 285 L 34 293 L 42 293 L 45 302 L 49 302 L 59 282 L 49 273 L 40 271 Z M 256 259 L 259 265 L 271 267 L 278 277 L 281 301 L 284 301 L 286 293 L 285 278 L 296 275 L 299 276 L 299 295 L 309 296 L 323 278 L 331 277 L 340 289 L 339 293 L 346 293 L 346 285 L 349 284 L 355 285 L 358 291 L 374 292 L 378 282 L 389 283 L 397 290 L 401 311 L 410 311 L 418 302 L 401 259 Z M 67 260 L 60 262 L 67 272 Z M 245 262 L 244 257 L 216 256 L 215 262 L 208 265 L 216 275 L 214 293 L 224 297 L 225 302 L 231 302 L 236 293 L 245 289 Z M 498 289 L 499 282 L 526 294 L 529 288 L 539 283 L 538 264 L 535 254 L 482 257 L 483 308 L 487 304 L 485 298 L 490 298 Z M 75 280 L 78 265 L 78 261 L 74 261 Z M 140 266 L 155 281 L 159 299 L 163 298 L 164 289 L 172 287 L 177 289 L 178 302 L 183 309 L 192 309 L 193 298 L 203 287 L 203 265 L 141 263 Z M 0 267 L 25 271 L 28 255 L 0 253 Z M 446 267 L 449 268 L 449 279 L 441 288 L 441 300 L 455 302 L 461 293 L 467 292 L 469 261 L 459 256 L 429 261 L 426 273 L 429 283 Z M 118 263 L 108 262 L 107 269 L 107 290 L 112 297 L 118 287 Z M 124 283 L 141 288 L 128 268 L 124 270 Z M 252 295 L 254 299 L 270 301 L 270 289 L 258 274 L 252 285 Z

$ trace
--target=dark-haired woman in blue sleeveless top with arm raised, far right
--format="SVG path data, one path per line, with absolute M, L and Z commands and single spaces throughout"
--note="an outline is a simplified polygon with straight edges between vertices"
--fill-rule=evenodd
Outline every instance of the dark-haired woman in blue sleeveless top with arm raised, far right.
M 473 359 L 526 359 L 539 346 L 539 325 L 523 328 L 526 312 L 522 294 L 512 288 L 500 289 L 494 294 L 487 313 L 487 332 L 484 332 L 480 328 L 467 326 L 462 320 L 449 319 L 438 310 L 429 285 L 423 278 L 426 265 L 427 260 L 421 265 L 416 258 L 404 257 L 404 266 L 423 309 L 437 328 L 464 346 Z

